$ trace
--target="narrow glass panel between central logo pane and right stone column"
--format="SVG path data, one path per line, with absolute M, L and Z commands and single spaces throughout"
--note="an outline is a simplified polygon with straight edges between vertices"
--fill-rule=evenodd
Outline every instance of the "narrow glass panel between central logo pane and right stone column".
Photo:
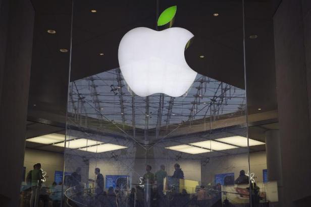
M 274 60 L 272 1 L 245 1 L 246 83 L 253 202 L 279 206 L 281 155 Z

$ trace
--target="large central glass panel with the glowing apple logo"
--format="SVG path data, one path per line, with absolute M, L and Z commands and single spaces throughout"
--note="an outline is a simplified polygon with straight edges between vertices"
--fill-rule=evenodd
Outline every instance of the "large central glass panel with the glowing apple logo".
M 242 6 L 74 1 L 67 204 L 249 205 Z

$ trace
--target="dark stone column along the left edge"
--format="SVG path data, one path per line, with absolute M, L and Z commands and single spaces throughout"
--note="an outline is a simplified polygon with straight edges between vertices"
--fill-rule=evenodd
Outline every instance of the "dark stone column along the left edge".
M 16 207 L 24 162 L 34 10 L 29 0 L 0 3 L 0 205 Z

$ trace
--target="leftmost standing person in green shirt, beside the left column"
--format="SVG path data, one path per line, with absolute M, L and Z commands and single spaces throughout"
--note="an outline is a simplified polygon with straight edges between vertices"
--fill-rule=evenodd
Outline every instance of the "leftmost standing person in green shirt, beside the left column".
M 39 191 L 42 184 L 41 179 L 43 178 L 41 164 L 35 164 L 35 168 L 31 172 L 31 197 L 30 206 L 37 207 L 39 201 Z

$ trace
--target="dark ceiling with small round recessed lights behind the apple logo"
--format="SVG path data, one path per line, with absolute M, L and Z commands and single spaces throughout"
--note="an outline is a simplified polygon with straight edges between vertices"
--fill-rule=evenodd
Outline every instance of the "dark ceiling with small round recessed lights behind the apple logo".
M 70 48 L 71 0 L 32 3 L 35 28 L 28 119 L 65 122 L 70 52 L 59 49 Z M 245 88 L 242 1 L 159 1 L 159 12 L 173 5 L 178 7 L 174 27 L 194 34 L 185 51 L 189 66 L 199 74 Z M 272 19 L 277 5 L 272 0 L 245 1 L 249 113 L 258 112 L 257 108 L 277 109 Z M 91 13 L 92 9 L 97 12 Z M 73 11 L 70 80 L 118 67 L 119 42 L 130 29 L 157 29 L 156 1 L 75 0 Z M 49 34 L 48 29 L 57 33 Z M 253 34 L 258 38 L 250 39 Z

